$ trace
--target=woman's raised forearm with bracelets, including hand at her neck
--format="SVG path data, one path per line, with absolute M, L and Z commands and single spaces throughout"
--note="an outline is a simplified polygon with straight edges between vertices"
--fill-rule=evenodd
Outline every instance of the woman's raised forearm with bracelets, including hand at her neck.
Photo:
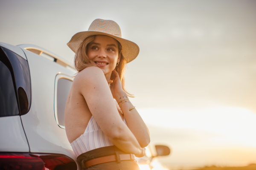
M 128 99 L 128 96 L 122 90 L 118 73 L 115 70 L 112 71 L 111 78 L 114 79 L 113 83 L 111 84 L 112 95 L 119 103 L 119 107 L 122 109 L 122 113 L 124 114 L 129 129 L 136 137 L 140 146 L 146 147 L 150 142 L 148 127 L 145 125 L 136 108 L 129 111 L 129 109 L 134 107 L 129 100 L 120 103 L 121 101 Z

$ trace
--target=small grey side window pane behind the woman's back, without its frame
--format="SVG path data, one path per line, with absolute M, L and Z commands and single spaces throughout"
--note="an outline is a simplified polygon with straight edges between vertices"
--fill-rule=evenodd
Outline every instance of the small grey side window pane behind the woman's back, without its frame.
M 72 81 L 65 78 L 58 79 L 57 85 L 57 117 L 58 124 L 61 126 L 65 126 L 64 124 L 64 113 L 65 106 L 67 102 L 67 96 L 70 92 Z

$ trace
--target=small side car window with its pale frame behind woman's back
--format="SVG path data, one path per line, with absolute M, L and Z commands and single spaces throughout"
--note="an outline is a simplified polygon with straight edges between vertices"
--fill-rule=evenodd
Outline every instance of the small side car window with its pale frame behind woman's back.
M 65 128 L 64 113 L 67 96 L 70 92 L 73 79 L 61 74 L 56 77 L 55 83 L 55 119 L 61 128 Z

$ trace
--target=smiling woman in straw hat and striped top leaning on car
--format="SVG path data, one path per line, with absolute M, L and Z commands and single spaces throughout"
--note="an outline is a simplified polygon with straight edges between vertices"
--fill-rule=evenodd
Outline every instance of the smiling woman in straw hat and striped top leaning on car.
M 135 156 L 144 156 L 149 132 L 124 88 L 125 65 L 139 47 L 122 39 L 117 23 L 101 19 L 67 45 L 76 53 L 78 74 L 66 103 L 65 128 L 77 159 L 86 170 L 139 169 Z

